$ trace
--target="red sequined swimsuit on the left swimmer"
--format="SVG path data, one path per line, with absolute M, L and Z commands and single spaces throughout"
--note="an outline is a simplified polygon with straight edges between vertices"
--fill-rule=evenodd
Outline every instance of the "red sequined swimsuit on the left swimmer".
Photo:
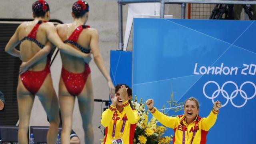
M 30 40 L 36 43 L 40 48 L 44 48 L 44 45 L 40 44 L 40 42 L 36 40 L 36 34 L 40 24 L 42 24 L 41 20 L 38 21 L 38 23 L 34 26 L 34 28 L 28 34 L 28 36 L 20 40 L 20 43 L 22 43 L 24 40 Z M 41 70 L 41 71 L 28 70 L 23 74 L 21 74 L 20 78 L 25 88 L 32 94 L 36 94 L 40 89 L 40 87 L 42 86 L 42 84 L 44 83 L 44 80 L 49 73 L 50 73 L 50 58 L 48 58 L 44 70 Z

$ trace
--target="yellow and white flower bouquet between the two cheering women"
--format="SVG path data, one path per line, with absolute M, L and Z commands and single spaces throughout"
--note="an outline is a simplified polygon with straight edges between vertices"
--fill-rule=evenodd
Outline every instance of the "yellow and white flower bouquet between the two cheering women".
M 145 110 L 142 98 L 140 102 L 137 101 L 137 96 L 134 96 L 132 104 L 140 117 L 136 125 L 134 134 L 134 144 L 170 144 L 173 136 L 163 136 L 166 130 L 165 126 L 157 126 L 156 118 L 152 117 L 148 122 L 148 110 Z

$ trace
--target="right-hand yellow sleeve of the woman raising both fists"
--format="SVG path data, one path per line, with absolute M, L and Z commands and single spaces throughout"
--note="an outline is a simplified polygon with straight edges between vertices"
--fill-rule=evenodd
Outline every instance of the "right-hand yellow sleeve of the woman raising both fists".
M 219 110 L 215 111 L 214 109 L 212 109 L 209 116 L 207 116 L 206 118 L 202 118 L 202 130 L 210 130 L 210 128 L 215 124 L 217 120 L 218 113 Z

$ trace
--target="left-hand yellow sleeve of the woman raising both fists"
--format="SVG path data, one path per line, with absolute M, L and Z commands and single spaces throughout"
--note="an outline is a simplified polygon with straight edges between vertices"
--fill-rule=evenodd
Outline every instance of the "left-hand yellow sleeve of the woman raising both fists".
M 155 107 L 150 110 L 152 115 L 164 126 L 169 128 L 176 128 L 178 126 L 178 118 L 172 116 L 166 116 L 162 112 L 159 112 Z

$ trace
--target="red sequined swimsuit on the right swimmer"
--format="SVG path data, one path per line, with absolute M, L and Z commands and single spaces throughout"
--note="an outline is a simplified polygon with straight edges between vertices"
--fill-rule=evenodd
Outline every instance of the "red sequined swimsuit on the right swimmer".
M 74 46 L 76 46 L 77 48 L 79 48 L 79 50 L 81 50 L 84 53 L 90 53 L 90 49 L 86 49 L 83 48 L 82 46 L 80 46 L 77 41 L 79 38 L 80 33 L 82 32 L 82 30 L 84 28 L 89 28 L 90 26 L 78 26 L 74 32 L 72 32 L 72 34 L 69 36 L 68 40 L 65 40 L 64 43 L 70 43 Z M 84 84 L 86 83 L 86 80 L 88 78 L 88 75 L 90 74 L 91 70 L 88 64 L 85 64 L 85 68 L 84 68 L 84 72 L 82 73 L 72 73 L 69 72 L 67 70 L 65 70 L 65 68 L 62 66 L 62 71 L 61 71 L 61 76 L 62 76 L 62 80 L 68 90 L 68 92 L 72 95 L 72 96 L 78 96 L 83 88 L 84 88 Z

